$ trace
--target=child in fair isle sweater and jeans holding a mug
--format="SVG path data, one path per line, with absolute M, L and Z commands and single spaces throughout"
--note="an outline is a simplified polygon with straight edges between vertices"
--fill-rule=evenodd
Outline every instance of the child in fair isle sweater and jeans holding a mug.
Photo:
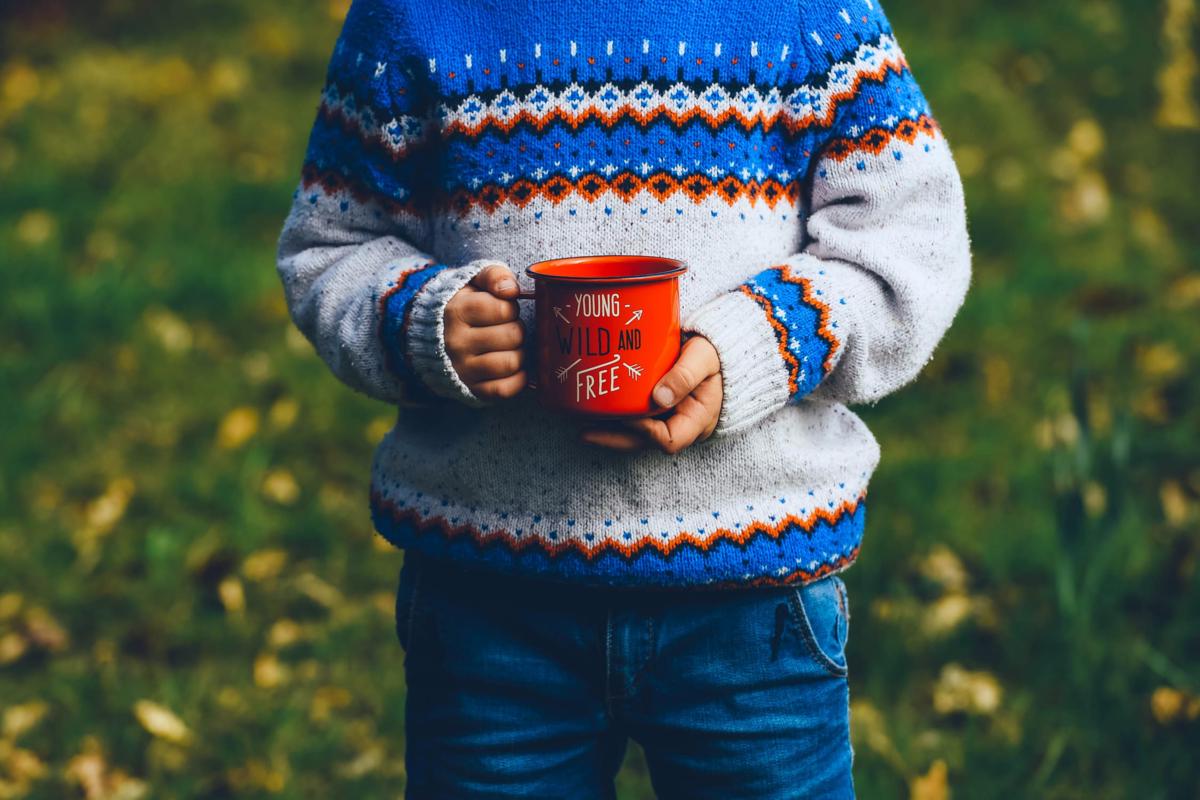
M 523 266 L 685 260 L 662 414 L 526 385 Z M 962 187 L 878 0 L 355 0 L 280 241 L 292 317 L 403 403 L 410 798 L 853 795 L 845 585 L 871 433 L 970 282 Z

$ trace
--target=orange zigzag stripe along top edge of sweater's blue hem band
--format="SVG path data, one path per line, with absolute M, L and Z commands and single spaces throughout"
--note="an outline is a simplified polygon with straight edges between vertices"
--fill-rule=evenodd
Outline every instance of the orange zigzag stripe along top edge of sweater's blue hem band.
M 684 543 L 690 543 L 697 547 L 702 552 L 708 552 L 708 546 L 712 542 L 719 540 L 731 541 L 738 545 L 746 543 L 752 536 L 764 534 L 772 539 L 779 539 L 782 533 L 796 525 L 810 533 L 818 523 L 826 522 L 830 525 L 836 524 L 846 515 L 853 515 L 859 504 L 866 498 L 866 492 L 864 491 L 854 500 L 845 500 L 841 505 L 835 509 L 814 509 L 812 513 L 808 517 L 798 517 L 796 515 L 787 515 L 786 517 L 779 519 L 775 523 L 767 522 L 755 522 L 745 525 L 740 530 L 734 530 L 731 528 L 719 528 L 710 534 L 701 537 L 696 536 L 691 531 L 679 531 L 672 536 L 666 542 L 660 542 L 655 539 L 646 537 L 637 542 L 630 545 L 622 545 L 620 542 L 613 540 L 604 540 L 599 545 L 588 546 L 577 539 L 565 539 L 558 543 L 548 543 L 545 539 L 540 536 L 526 536 L 524 539 L 516 539 L 505 529 L 497 529 L 487 531 L 486 534 L 475 528 L 474 525 L 463 523 L 461 525 L 455 525 L 443 516 L 434 517 L 421 517 L 415 509 L 402 509 L 395 503 L 385 499 L 378 492 L 372 492 L 371 499 L 377 507 L 382 509 L 396 522 L 410 522 L 418 530 L 418 533 L 426 533 L 430 530 L 438 530 L 446 539 L 464 537 L 473 540 L 479 548 L 484 548 L 492 542 L 500 542 L 506 549 L 512 553 L 520 554 L 522 551 L 538 548 L 545 551 L 551 558 L 558 558 L 568 551 L 576 551 L 588 561 L 594 561 L 596 558 L 602 555 L 606 551 L 611 551 L 618 555 L 624 557 L 626 560 L 632 560 L 634 557 L 638 555 L 644 551 L 656 551 L 660 555 L 667 557 L 672 552 L 678 549 Z

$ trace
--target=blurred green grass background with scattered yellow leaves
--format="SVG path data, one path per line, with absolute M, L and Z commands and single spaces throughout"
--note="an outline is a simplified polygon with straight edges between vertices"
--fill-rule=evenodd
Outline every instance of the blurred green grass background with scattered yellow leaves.
M 344 10 L 0 4 L 0 799 L 401 795 L 390 413 L 274 269 Z M 860 409 L 859 794 L 1198 798 L 1195 2 L 888 11 L 976 273 Z

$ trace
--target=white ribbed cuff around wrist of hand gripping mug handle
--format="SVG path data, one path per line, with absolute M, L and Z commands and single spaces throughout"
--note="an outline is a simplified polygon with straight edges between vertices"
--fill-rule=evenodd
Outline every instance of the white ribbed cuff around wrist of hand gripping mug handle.
M 450 299 L 485 267 L 494 264 L 504 265 L 494 259 L 476 259 L 438 272 L 413 297 L 406 333 L 408 357 L 421 383 L 434 395 L 476 408 L 486 403 L 470 391 L 450 362 L 444 317 Z

